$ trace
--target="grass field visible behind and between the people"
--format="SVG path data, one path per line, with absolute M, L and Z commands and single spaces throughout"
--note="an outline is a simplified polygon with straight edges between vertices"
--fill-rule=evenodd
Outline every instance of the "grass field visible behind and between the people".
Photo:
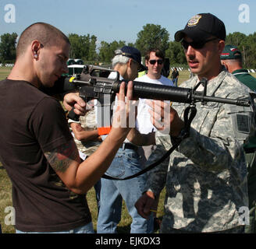
M 5 79 L 10 72 L 10 68 L 0 68 L 0 80 Z M 256 74 L 252 74 L 256 77 Z M 180 78 L 178 84 L 189 79 L 189 72 L 184 70 L 180 72 Z M 0 223 L 2 224 L 2 233 L 15 233 L 14 227 L 12 225 L 5 225 L 5 218 L 8 213 L 5 213 L 5 208 L 12 206 L 12 194 L 11 194 L 12 184 L 9 181 L 9 177 L 6 174 L 2 163 L 0 162 Z M 157 216 L 161 219 L 163 216 L 163 202 L 165 196 L 165 189 L 162 191 L 159 203 L 158 203 L 158 214 Z M 91 210 L 91 216 L 94 223 L 94 229 L 96 229 L 97 223 L 97 202 L 95 199 L 94 188 L 91 188 L 87 193 L 87 202 Z M 118 226 L 119 233 L 129 233 L 130 231 L 131 218 L 127 212 L 125 204 L 123 204 L 122 210 L 122 220 Z M 158 232 L 158 231 L 157 231 Z

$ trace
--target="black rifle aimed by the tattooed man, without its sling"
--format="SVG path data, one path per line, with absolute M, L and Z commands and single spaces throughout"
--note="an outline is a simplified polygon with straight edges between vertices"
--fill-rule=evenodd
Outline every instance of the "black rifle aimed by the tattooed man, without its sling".
M 64 92 L 66 93 L 70 90 L 76 89 L 78 90 L 80 97 L 85 102 L 96 99 L 98 100 L 99 105 L 103 107 L 103 113 L 111 114 L 111 110 L 109 108 L 115 100 L 116 93 L 119 93 L 119 86 L 121 82 L 126 82 L 127 84 L 128 80 L 119 80 L 119 72 L 116 72 L 116 78 L 109 79 L 108 75 L 110 72 L 116 71 L 95 65 L 84 65 L 84 70 L 81 74 L 66 77 Z M 190 104 L 194 104 L 196 102 L 201 102 L 203 104 L 207 102 L 218 102 L 244 107 L 249 107 L 251 105 L 250 100 L 236 100 L 207 96 L 207 82 L 208 80 L 203 78 L 197 83 L 194 89 L 190 89 L 133 81 L 133 96 L 144 99 L 170 100 L 172 102 Z M 204 86 L 203 92 L 196 91 L 200 85 Z M 78 120 L 79 116 L 71 110 L 69 112 L 69 118 Z M 102 120 L 101 125 L 110 126 L 111 124 L 109 121 L 104 124 L 104 120 Z

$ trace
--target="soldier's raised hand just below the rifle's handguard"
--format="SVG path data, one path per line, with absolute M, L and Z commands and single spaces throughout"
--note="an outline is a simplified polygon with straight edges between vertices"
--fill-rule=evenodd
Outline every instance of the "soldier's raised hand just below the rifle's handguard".
M 180 119 L 176 110 L 170 106 L 169 101 L 147 100 L 151 107 L 151 122 L 159 131 L 176 137 L 184 127 L 183 121 Z

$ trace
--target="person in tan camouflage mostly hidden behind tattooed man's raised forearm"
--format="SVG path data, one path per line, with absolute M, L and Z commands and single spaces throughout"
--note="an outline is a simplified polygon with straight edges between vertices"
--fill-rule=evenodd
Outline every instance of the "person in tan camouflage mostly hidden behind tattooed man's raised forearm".
M 70 130 L 76 142 L 77 149 L 80 153 L 80 158 L 85 160 L 101 144 L 101 136 L 98 135 L 96 114 L 94 107 L 89 110 L 84 116 L 80 116 L 80 121 L 76 122 L 69 119 Z M 98 203 L 98 211 L 100 209 L 100 194 L 101 194 L 101 179 L 94 184 L 96 200 Z

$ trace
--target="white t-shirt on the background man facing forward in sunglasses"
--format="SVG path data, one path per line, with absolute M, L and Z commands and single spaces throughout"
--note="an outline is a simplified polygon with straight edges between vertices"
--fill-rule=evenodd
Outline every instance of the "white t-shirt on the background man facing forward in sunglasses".
M 172 81 L 162 75 L 160 79 L 151 79 L 148 77 L 148 75 L 143 75 L 137 79 L 134 79 L 134 81 L 147 82 L 147 83 L 165 85 L 165 86 L 173 86 Z M 155 126 L 152 125 L 150 121 L 150 114 L 148 112 L 149 106 L 147 103 L 145 103 L 145 101 L 146 99 L 140 99 L 138 109 L 137 109 L 138 113 L 137 113 L 136 128 L 142 134 L 148 134 L 149 132 L 156 131 Z

